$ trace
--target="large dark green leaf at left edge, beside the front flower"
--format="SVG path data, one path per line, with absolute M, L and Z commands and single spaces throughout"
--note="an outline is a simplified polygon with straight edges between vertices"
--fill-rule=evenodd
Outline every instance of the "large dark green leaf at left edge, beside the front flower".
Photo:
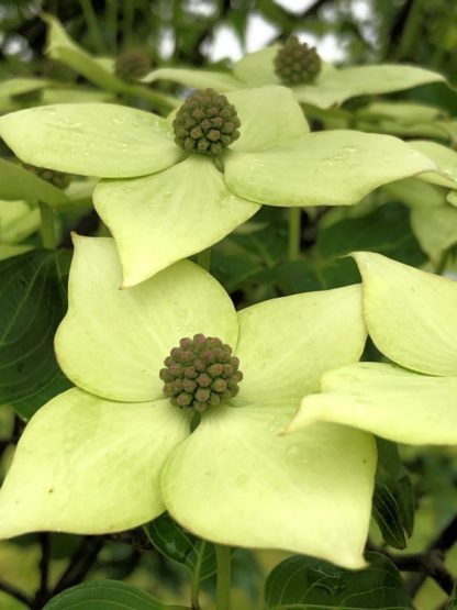
M 35 249 L 0 263 L 0 403 L 16 406 L 25 419 L 41 397 L 45 402 L 49 392 L 69 387 L 53 346 L 66 309 L 62 266 L 68 258 L 67 252 Z

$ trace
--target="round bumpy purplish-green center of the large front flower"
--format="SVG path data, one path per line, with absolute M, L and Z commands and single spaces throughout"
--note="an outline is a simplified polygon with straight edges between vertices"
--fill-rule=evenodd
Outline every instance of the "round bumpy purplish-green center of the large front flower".
M 202 413 L 236 396 L 243 374 L 232 347 L 218 337 L 196 334 L 181 339 L 159 373 L 164 395 L 188 413 Z

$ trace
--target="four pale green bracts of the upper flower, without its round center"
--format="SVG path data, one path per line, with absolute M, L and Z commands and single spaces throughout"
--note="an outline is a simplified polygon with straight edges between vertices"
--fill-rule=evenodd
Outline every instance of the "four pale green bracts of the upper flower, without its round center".
M 310 133 L 285 87 L 227 98 L 241 137 L 218 167 L 175 144 L 171 119 L 108 103 L 8 114 L 0 135 L 27 163 L 105 178 L 94 206 L 116 242 L 125 287 L 213 245 L 259 204 L 349 206 L 392 180 L 437 170 L 397 137 Z

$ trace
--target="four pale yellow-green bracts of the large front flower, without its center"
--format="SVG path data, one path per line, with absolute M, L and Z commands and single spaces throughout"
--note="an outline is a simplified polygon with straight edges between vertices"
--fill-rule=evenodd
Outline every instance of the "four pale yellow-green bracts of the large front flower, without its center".
M 75 246 L 56 353 L 77 387 L 26 426 L 0 490 L 0 536 L 109 533 L 168 510 L 218 543 L 363 567 L 371 435 L 333 423 L 279 435 L 324 371 L 359 358 L 360 286 L 236 312 L 193 263 L 119 290 L 114 242 L 76 237 Z M 239 395 L 204 412 L 190 433 L 188 417 L 163 398 L 158 371 L 194 333 L 231 344 L 244 379 Z

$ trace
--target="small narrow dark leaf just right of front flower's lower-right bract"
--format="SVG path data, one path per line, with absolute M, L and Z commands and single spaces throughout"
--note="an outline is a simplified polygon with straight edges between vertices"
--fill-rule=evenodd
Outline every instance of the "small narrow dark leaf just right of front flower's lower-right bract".
M 400 508 L 387 485 L 375 486 L 372 512 L 384 542 L 394 548 L 406 548 Z

